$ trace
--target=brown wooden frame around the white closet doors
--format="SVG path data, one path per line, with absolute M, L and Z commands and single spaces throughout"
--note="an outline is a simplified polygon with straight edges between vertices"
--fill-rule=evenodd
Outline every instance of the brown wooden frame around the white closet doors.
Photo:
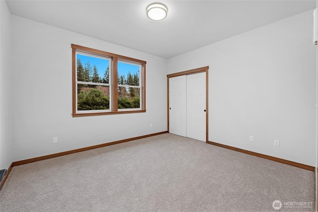
M 168 121 L 168 133 L 169 133 L 169 79 L 176 76 L 190 75 L 195 73 L 205 72 L 205 83 L 206 83 L 206 143 L 209 141 L 209 67 L 202 67 L 198 69 L 192 69 L 188 71 L 181 71 L 177 73 L 167 74 L 167 121 Z

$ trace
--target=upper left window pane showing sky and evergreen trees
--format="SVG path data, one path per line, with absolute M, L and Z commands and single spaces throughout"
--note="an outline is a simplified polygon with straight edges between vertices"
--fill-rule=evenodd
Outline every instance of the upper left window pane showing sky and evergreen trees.
M 78 81 L 109 83 L 109 60 L 81 54 L 76 56 Z

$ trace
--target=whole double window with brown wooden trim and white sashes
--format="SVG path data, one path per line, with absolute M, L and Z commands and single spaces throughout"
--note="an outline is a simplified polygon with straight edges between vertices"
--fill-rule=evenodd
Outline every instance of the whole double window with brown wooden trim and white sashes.
M 146 62 L 72 44 L 73 117 L 146 112 Z

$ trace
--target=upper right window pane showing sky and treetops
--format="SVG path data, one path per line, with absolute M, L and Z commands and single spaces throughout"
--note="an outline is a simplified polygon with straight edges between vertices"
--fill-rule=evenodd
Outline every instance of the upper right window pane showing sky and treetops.
M 139 86 L 140 65 L 118 62 L 118 84 Z

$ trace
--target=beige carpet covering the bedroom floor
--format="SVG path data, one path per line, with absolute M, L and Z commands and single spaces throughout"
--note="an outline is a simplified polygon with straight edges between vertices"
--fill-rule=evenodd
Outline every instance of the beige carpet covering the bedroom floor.
M 1 212 L 286 212 L 314 172 L 171 134 L 15 166 Z M 280 210 L 272 203 L 279 200 Z

